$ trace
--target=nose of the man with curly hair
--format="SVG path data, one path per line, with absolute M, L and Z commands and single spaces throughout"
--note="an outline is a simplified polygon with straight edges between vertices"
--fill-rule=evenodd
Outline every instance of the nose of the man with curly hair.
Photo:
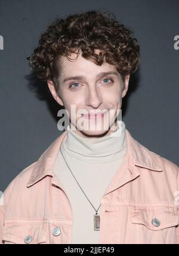
M 100 93 L 97 91 L 96 88 L 88 89 L 87 96 L 86 96 L 86 105 L 92 106 L 92 108 L 98 108 L 101 104 L 102 99 Z

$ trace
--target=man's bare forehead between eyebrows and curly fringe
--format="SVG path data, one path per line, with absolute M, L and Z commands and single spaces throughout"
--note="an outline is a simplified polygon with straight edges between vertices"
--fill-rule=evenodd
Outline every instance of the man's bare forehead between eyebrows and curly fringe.
M 95 50 L 95 53 L 100 53 L 100 50 Z M 77 72 L 88 76 L 101 71 L 116 71 L 116 66 L 110 65 L 107 62 L 103 62 L 103 65 L 99 66 L 92 62 L 92 60 L 85 59 L 84 57 L 82 57 L 81 51 L 79 51 L 79 55 L 77 55 L 76 53 L 72 53 L 69 58 L 70 60 L 67 59 L 66 56 L 60 57 L 62 77 L 65 77 L 69 74 L 78 75 Z

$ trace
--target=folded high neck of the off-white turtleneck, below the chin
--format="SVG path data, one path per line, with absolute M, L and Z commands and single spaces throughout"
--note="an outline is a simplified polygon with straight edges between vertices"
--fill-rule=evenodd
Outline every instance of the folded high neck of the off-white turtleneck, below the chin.
M 84 138 L 67 126 L 67 137 L 63 147 L 78 157 L 107 157 L 119 153 L 126 146 L 125 123 L 118 121 L 115 132 L 98 138 Z

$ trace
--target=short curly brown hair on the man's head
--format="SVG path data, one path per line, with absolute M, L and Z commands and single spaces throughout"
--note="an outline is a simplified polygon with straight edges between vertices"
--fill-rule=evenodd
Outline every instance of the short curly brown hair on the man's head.
M 109 11 L 87 11 L 70 14 L 66 19 L 56 18 L 41 34 L 38 47 L 27 57 L 30 68 L 43 81 L 52 80 L 58 91 L 60 56 L 70 60 L 71 53 L 79 54 L 96 65 L 104 61 L 115 65 L 122 79 L 135 72 L 140 61 L 140 45 L 133 32 L 110 17 Z M 94 50 L 100 50 L 99 54 Z M 77 55 L 78 57 L 78 55 Z

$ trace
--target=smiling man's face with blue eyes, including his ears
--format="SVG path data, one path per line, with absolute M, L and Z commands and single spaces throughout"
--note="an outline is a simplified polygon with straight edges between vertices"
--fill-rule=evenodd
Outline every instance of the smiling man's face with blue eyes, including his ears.
M 70 59 L 75 58 L 73 53 Z M 83 137 L 106 136 L 115 131 L 129 75 L 124 82 L 115 66 L 106 62 L 98 66 L 84 59 L 81 52 L 75 60 L 62 56 L 60 66 L 58 95 L 51 81 L 48 87 L 69 114 L 70 128 Z

